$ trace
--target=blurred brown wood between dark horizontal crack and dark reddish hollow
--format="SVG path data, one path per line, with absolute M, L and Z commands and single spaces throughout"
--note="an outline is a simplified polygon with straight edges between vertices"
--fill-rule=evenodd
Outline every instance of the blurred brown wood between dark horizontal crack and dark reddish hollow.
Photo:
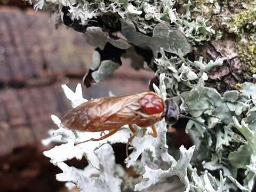
M 56 126 L 51 114 L 61 116 L 70 108 L 59 84 L 0 91 L 0 156 L 17 146 L 40 143 Z

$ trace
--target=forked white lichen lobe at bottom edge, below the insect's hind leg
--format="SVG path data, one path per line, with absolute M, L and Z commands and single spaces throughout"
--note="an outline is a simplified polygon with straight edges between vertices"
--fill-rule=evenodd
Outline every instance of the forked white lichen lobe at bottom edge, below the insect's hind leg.
M 84 170 L 79 170 L 61 162 L 57 165 L 63 173 L 57 174 L 56 179 L 58 181 L 75 183 L 79 190 L 86 192 L 121 191 L 122 180 L 115 174 L 116 164 L 112 147 L 109 144 L 105 144 L 95 150 L 95 155 L 97 155 L 100 161 L 100 171 L 93 169 L 90 165 Z M 99 176 L 92 177 L 93 174 Z

